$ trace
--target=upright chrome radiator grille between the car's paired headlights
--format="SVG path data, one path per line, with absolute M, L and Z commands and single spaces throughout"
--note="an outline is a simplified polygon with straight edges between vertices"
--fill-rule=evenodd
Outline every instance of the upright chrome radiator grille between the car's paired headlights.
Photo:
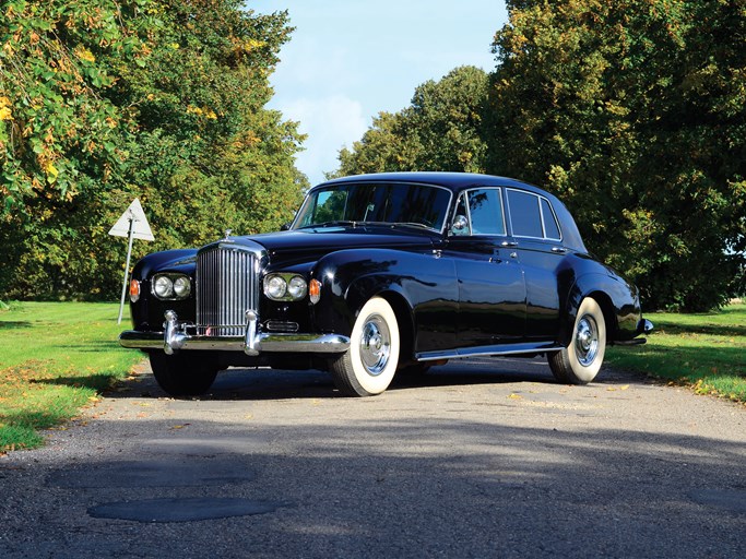
M 246 311 L 259 304 L 258 261 L 253 252 L 221 245 L 197 257 L 197 334 L 241 336 Z

